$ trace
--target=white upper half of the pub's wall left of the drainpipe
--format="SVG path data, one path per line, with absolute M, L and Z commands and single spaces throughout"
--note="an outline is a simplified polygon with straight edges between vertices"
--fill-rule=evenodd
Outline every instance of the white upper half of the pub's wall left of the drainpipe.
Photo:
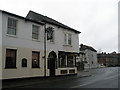
M 9 16 L 10 17 L 10 16 Z M 23 48 L 33 48 L 33 49 L 43 49 L 43 26 L 32 23 L 26 22 L 22 19 L 11 17 L 18 20 L 17 24 L 17 35 L 16 37 L 9 37 L 7 36 L 7 20 L 8 15 L 3 15 L 3 45 L 9 46 L 17 46 Z M 33 41 L 32 40 L 32 25 L 38 25 L 40 28 L 40 40 Z

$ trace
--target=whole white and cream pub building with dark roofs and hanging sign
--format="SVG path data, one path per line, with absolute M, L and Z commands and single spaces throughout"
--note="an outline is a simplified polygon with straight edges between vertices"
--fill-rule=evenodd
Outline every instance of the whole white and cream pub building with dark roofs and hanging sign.
M 33 11 L 0 10 L 0 32 L 1 79 L 77 74 L 79 31 Z

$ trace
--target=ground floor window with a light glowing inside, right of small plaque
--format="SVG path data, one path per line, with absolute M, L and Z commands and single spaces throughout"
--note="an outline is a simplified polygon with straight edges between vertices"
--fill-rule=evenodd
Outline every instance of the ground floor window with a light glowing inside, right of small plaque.
M 32 68 L 39 68 L 39 52 L 32 52 Z

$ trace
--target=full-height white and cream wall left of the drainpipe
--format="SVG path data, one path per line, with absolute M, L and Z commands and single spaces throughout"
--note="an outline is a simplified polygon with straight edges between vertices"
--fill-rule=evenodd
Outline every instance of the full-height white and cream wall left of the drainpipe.
M 11 37 L 7 35 L 7 20 L 8 17 L 14 18 L 17 21 L 17 35 L 16 37 Z M 43 26 L 26 22 L 23 19 L 11 17 L 6 14 L 3 15 L 2 18 L 2 27 L 3 27 L 3 79 L 8 78 L 20 78 L 20 77 L 34 77 L 34 76 L 44 76 L 44 60 L 43 56 Z M 40 40 L 33 41 L 32 40 L 32 25 L 40 26 Z M 17 69 L 5 69 L 5 55 L 6 48 L 17 49 Z M 31 60 L 32 60 L 32 51 L 40 52 L 40 68 L 31 68 Z M 27 59 L 27 68 L 21 67 L 21 60 L 23 58 Z M 9 74 L 8 74 L 9 73 Z

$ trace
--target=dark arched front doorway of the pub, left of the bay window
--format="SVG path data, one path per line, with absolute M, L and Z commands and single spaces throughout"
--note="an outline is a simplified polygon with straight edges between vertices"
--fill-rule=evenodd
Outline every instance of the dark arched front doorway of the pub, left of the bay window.
M 56 61 L 56 53 L 54 51 L 49 53 L 48 56 L 48 69 L 50 70 L 50 77 L 55 76 L 55 61 Z

